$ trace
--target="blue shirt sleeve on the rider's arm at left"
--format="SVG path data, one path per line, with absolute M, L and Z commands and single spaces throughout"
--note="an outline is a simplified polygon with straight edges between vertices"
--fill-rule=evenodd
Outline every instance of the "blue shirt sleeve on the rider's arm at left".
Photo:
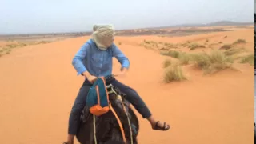
M 86 66 L 83 64 L 83 60 L 86 58 L 86 51 L 88 49 L 88 44 L 85 43 L 80 50 L 78 50 L 77 54 L 74 55 L 72 65 L 74 69 L 78 72 L 78 75 L 87 71 Z

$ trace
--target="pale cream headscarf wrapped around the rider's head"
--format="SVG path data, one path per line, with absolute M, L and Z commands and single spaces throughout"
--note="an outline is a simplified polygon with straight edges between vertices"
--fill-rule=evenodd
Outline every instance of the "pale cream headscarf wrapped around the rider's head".
M 112 45 L 114 39 L 114 27 L 112 25 L 94 25 L 92 40 L 100 50 L 106 50 Z

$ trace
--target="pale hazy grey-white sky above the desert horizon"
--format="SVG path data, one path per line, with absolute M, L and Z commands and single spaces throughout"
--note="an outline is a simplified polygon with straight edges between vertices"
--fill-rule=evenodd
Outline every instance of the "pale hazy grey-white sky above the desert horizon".
M 0 0 L 0 34 L 116 29 L 216 21 L 254 22 L 253 0 Z

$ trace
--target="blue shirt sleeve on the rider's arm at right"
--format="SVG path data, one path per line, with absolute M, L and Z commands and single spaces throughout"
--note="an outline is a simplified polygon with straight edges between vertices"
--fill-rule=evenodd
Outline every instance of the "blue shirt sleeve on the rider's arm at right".
M 113 52 L 113 57 L 117 58 L 118 59 L 118 62 L 121 63 L 122 67 L 125 67 L 125 68 L 129 68 L 130 66 L 130 61 L 129 59 L 126 57 L 125 54 L 122 53 L 121 50 L 118 49 L 118 46 L 116 45 L 113 45 L 112 47 L 112 52 Z

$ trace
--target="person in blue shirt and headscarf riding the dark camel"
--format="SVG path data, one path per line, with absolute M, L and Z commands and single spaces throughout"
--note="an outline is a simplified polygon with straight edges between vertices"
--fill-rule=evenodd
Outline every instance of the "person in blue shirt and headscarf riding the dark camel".
M 78 92 L 70 113 L 67 142 L 64 142 L 66 144 L 74 143 L 74 136 L 77 134 L 79 127 L 80 114 L 86 106 L 86 96 L 90 86 L 96 78 L 112 75 L 112 57 L 117 58 L 122 65 L 120 74 L 126 74 L 130 66 L 129 59 L 114 44 L 113 26 L 95 25 L 93 30 L 90 40 L 84 43 L 72 61 L 77 74 L 85 77 L 85 81 Z M 150 122 L 153 130 L 170 129 L 166 122 L 155 120 L 145 102 L 134 89 L 118 82 L 116 79 L 111 84 L 126 94 L 127 100 L 138 110 L 142 118 L 146 118 Z

